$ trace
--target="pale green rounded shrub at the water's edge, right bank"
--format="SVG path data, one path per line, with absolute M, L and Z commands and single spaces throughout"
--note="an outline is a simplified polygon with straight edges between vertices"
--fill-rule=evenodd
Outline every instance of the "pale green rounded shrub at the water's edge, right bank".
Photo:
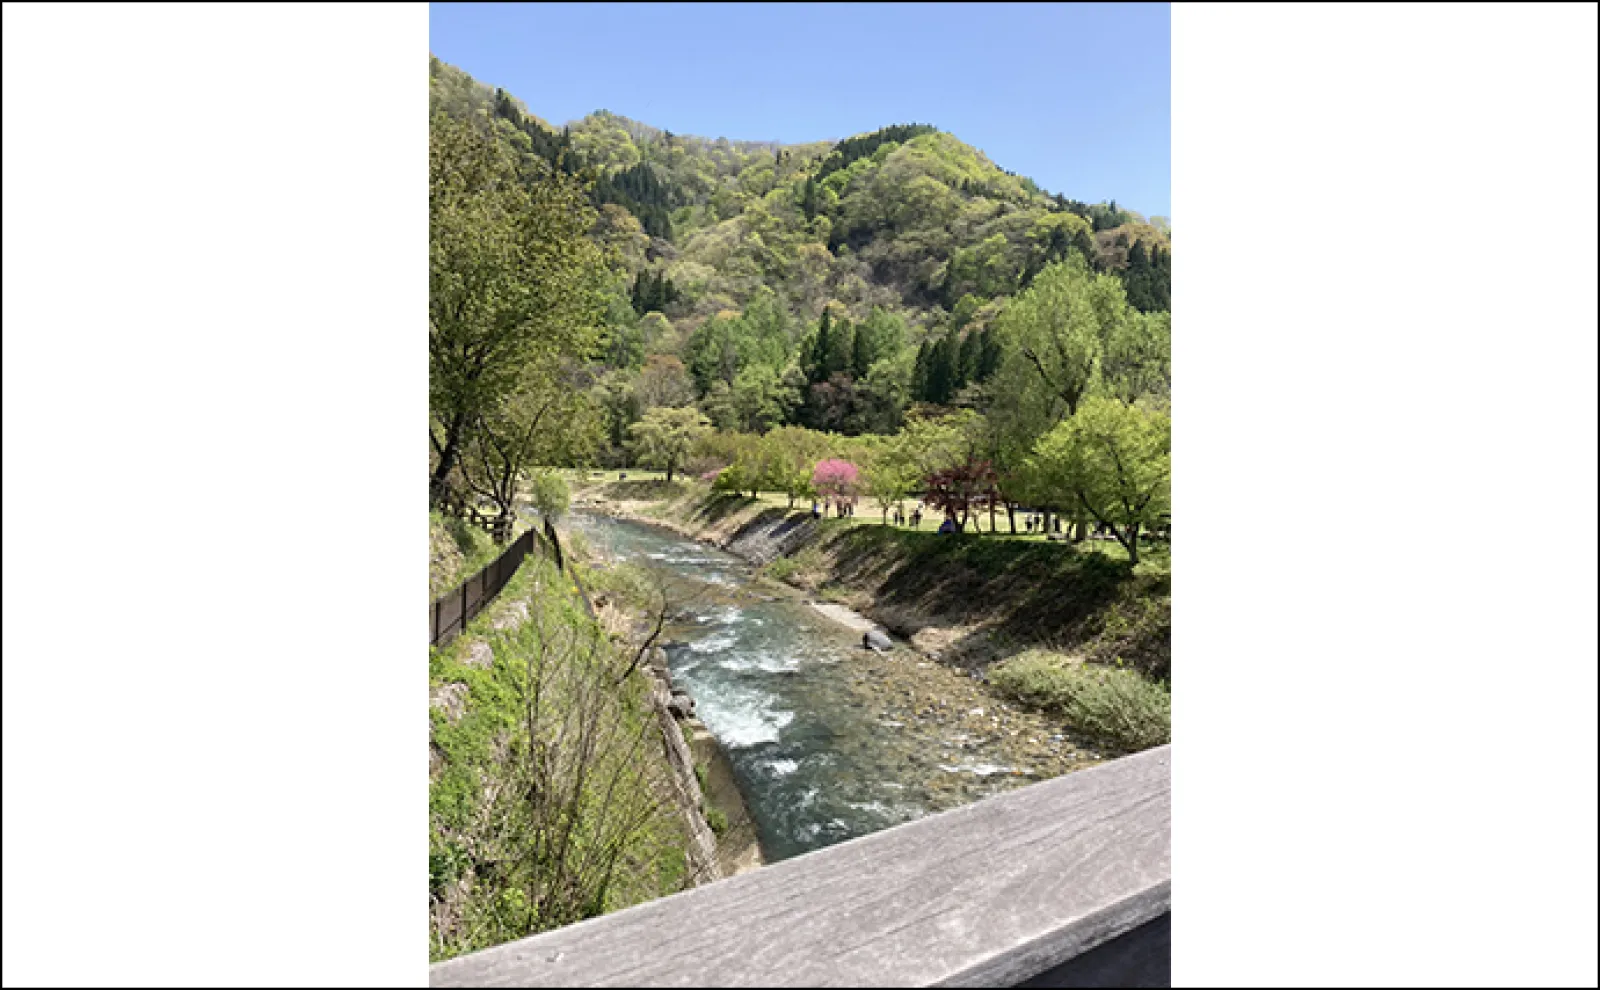
M 1064 715 L 1085 736 L 1120 750 L 1150 748 L 1173 736 L 1171 693 L 1134 670 L 1029 649 L 998 664 L 989 681 L 1021 704 Z

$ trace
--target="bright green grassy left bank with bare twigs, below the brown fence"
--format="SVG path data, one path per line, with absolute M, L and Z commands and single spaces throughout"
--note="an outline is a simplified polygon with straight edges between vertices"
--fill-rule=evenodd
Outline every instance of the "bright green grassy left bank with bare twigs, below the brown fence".
M 693 886 L 661 728 L 645 680 L 622 677 L 629 659 L 541 557 L 430 651 L 432 960 Z

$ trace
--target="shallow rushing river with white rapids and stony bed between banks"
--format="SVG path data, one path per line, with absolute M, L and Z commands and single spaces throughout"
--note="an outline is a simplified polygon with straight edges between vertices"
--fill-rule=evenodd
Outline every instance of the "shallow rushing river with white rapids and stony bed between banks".
M 642 565 L 669 589 L 672 680 L 728 753 L 768 862 L 1091 760 L 1043 723 L 1000 712 L 955 670 L 904 646 L 864 649 L 859 632 L 757 581 L 738 557 L 594 513 L 568 525 L 606 560 Z

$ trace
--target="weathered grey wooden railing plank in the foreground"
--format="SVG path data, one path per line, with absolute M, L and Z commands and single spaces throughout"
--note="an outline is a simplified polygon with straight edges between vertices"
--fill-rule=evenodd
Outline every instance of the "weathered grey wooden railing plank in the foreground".
M 1171 908 L 1171 747 L 430 968 L 434 987 L 1010 987 Z

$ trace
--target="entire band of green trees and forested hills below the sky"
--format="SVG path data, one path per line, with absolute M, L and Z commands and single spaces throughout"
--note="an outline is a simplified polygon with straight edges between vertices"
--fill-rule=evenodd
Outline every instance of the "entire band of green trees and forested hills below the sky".
M 963 525 L 1022 502 L 1136 544 L 1165 509 L 1163 218 L 926 123 L 741 142 L 429 85 L 435 507 L 504 533 L 536 465 L 816 497 L 842 457 L 851 497 Z

